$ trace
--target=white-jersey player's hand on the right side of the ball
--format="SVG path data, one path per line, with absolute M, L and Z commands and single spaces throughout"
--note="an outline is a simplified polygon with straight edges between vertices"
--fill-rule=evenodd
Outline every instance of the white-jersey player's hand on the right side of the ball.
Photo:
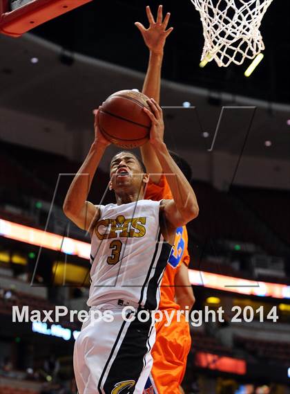
M 151 129 L 150 129 L 150 139 L 149 142 L 152 145 L 160 145 L 164 143 L 164 120 L 163 120 L 163 111 L 160 105 L 157 102 L 150 98 L 147 100 L 147 103 L 151 109 L 147 109 L 144 107 L 145 113 L 151 119 Z

